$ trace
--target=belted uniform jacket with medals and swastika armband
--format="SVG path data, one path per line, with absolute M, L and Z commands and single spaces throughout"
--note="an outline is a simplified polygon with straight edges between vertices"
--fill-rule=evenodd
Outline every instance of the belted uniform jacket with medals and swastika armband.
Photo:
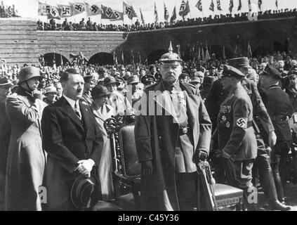
M 220 105 L 218 129 L 214 136 L 218 148 L 233 160 L 256 158 L 256 136 L 251 126 L 253 105 L 243 86 L 237 87 Z

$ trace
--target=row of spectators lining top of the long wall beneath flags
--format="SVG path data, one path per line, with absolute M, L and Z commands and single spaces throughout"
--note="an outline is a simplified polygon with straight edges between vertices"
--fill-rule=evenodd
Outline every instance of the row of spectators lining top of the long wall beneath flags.
M 253 15 L 251 15 L 253 16 Z M 297 16 L 296 8 L 294 9 L 280 9 L 278 11 L 265 11 L 258 12 L 257 20 L 272 19 L 272 18 L 287 18 Z M 192 25 L 206 25 L 213 23 L 230 23 L 230 22 L 241 22 L 248 21 L 249 13 L 237 13 L 232 14 L 220 14 L 214 17 L 210 15 L 208 18 L 188 18 L 187 20 L 177 20 L 173 23 L 147 23 L 140 24 L 139 20 L 133 25 L 103 25 L 93 23 L 91 18 L 87 21 L 83 18 L 79 23 L 72 23 L 65 18 L 61 23 L 56 23 L 55 19 L 51 19 L 49 23 L 42 23 L 41 20 L 37 22 L 37 30 L 70 30 L 70 31 L 119 31 L 119 32 L 132 32 L 139 30 L 156 30 L 170 27 L 184 27 Z

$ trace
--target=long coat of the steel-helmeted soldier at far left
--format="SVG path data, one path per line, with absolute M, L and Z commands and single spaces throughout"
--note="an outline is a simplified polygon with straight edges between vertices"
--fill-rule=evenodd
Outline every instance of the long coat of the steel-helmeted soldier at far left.
M 42 148 L 41 115 L 46 103 L 34 101 L 25 89 L 6 98 L 11 123 L 6 170 L 6 210 L 41 210 L 39 186 L 43 184 L 46 153 Z

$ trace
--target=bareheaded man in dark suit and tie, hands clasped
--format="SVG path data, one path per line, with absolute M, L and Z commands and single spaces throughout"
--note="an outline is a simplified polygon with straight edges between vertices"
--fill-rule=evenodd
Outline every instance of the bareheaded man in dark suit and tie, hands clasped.
M 63 96 L 44 110 L 42 134 L 48 153 L 46 188 L 48 210 L 77 210 L 70 196 L 79 176 L 90 177 L 100 162 L 103 136 L 91 108 L 79 101 L 84 78 L 77 69 L 67 69 L 60 82 Z

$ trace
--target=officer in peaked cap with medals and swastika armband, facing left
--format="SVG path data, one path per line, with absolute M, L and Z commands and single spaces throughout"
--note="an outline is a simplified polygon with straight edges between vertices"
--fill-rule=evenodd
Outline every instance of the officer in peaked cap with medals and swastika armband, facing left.
M 220 82 L 229 95 L 220 105 L 218 127 L 213 139 L 218 145 L 216 157 L 225 159 L 227 184 L 242 188 L 247 200 L 253 191 L 251 179 L 257 141 L 252 127 L 253 105 L 242 86 L 243 77 L 244 74 L 236 68 L 224 66 Z

